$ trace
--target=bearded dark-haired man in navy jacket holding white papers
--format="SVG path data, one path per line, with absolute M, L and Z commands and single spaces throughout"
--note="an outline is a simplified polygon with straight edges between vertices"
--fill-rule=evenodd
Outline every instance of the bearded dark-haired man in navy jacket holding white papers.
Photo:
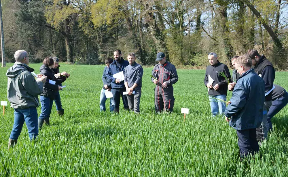
M 123 92 L 126 92 L 126 87 L 124 85 L 124 79 L 116 79 L 113 77 L 113 75 L 122 71 L 124 74 L 125 67 L 129 65 L 129 62 L 122 58 L 121 50 L 118 49 L 114 51 L 114 58 L 115 60 L 110 64 L 106 76 L 112 83 L 111 86 L 114 101 L 114 112 L 119 113 L 120 96 L 122 97 L 124 109 L 128 110 L 127 97 L 126 95 L 123 95 Z

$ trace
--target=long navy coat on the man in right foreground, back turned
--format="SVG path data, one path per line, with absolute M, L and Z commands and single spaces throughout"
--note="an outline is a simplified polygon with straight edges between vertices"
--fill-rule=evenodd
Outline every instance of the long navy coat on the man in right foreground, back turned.
M 242 74 L 232 92 L 231 103 L 225 111 L 231 117 L 229 125 L 236 130 L 247 130 L 260 126 L 265 101 L 265 83 L 254 69 Z

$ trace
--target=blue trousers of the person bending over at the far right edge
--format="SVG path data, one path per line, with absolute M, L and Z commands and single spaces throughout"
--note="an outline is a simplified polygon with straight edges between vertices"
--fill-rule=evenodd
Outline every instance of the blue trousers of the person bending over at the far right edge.
M 272 101 L 272 105 L 267 114 L 267 128 L 272 131 L 272 122 L 271 119 L 276 115 L 281 109 L 283 109 L 288 103 L 288 92 L 286 92 L 282 97 L 277 98 Z

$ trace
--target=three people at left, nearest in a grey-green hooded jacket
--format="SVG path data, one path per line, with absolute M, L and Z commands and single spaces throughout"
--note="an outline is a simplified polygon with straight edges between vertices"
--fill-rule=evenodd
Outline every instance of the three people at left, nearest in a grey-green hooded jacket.
M 30 140 L 38 136 L 39 128 L 45 122 L 50 124 L 50 114 L 53 101 L 56 104 L 57 113 L 64 114 L 59 90 L 61 83 L 70 75 L 59 72 L 59 59 L 46 57 L 40 67 L 40 74 L 33 75 L 35 71 L 29 67 L 29 55 L 24 50 L 18 50 L 14 54 L 16 62 L 7 70 L 7 98 L 14 108 L 14 125 L 8 141 L 8 148 L 17 143 L 24 122 L 27 125 Z M 41 114 L 38 117 L 37 107 L 40 106 Z M 37 121 L 38 120 L 38 121 Z

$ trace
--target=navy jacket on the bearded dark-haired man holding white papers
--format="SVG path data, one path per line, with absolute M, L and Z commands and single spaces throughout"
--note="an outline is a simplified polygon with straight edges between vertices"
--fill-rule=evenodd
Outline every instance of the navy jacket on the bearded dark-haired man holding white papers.
M 113 88 L 125 88 L 124 80 L 121 81 L 120 83 L 115 83 L 115 78 L 113 77 L 113 74 L 123 71 L 123 74 L 125 76 L 125 68 L 128 65 L 129 65 L 129 62 L 127 60 L 124 60 L 122 57 L 121 57 L 120 62 L 114 60 L 110 64 L 109 69 L 107 69 L 106 77 L 111 81 L 112 89 Z

